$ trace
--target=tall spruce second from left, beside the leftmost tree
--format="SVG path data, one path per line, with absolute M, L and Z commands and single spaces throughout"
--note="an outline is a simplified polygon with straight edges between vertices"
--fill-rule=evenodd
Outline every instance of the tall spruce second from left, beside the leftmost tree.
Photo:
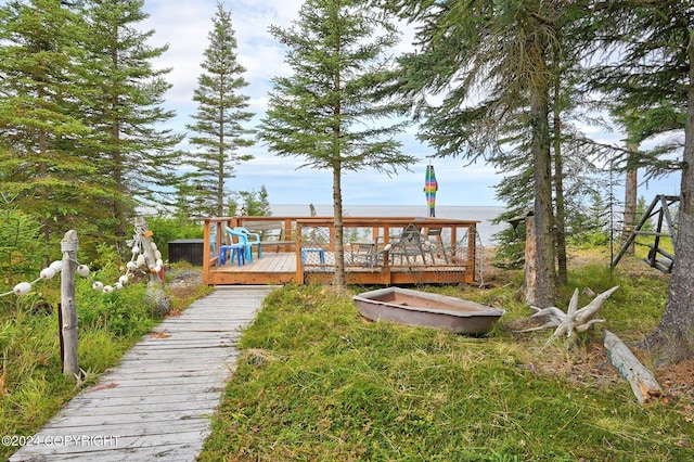
M 87 0 L 82 14 L 89 24 L 83 70 L 89 104 L 83 107 L 92 128 L 81 155 L 112 194 L 97 206 L 108 210 L 102 232 L 127 235 L 136 205 L 169 205 L 176 194 L 179 153 L 174 146 L 181 134 L 162 129 L 175 116 L 163 107 L 171 87 L 170 69 L 157 69 L 153 61 L 168 46 L 151 47 L 154 30 L 138 27 L 149 17 L 143 0 Z

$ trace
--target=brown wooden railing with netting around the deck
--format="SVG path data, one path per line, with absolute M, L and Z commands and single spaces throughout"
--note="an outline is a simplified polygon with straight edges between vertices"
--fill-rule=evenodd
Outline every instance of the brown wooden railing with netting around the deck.
M 391 273 L 459 269 L 464 274 L 453 282 L 473 282 L 478 221 L 420 217 L 344 217 L 344 266 L 349 273 L 371 274 L 358 282 L 390 284 Z M 204 273 L 217 267 L 217 249 L 228 244 L 224 227 L 243 227 L 260 235 L 262 249 L 294 253 L 294 281 L 327 281 L 335 269 L 333 217 L 223 217 L 205 220 Z M 414 227 L 421 236 L 421 256 L 402 245 L 402 233 Z M 374 273 L 380 275 L 375 277 Z M 352 278 L 355 279 L 355 278 Z M 349 282 L 349 278 L 348 278 Z

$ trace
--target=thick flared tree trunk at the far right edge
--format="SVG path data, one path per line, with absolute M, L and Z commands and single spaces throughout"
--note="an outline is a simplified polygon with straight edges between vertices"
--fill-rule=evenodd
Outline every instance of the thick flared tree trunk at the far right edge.
M 676 259 L 663 318 L 643 345 L 655 350 L 656 364 L 679 362 L 694 354 L 694 30 L 687 51 L 690 81 Z

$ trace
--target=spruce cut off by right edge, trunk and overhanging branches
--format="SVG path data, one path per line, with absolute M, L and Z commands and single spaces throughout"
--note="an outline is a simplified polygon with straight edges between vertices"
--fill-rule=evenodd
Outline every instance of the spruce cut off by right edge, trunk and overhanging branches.
M 619 62 L 602 66 L 594 84 L 633 110 L 673 105 L 684 118 L 676 261 L 656 330 L 643 342 L 656 362 L 694 356 L 694 13 L 690 0 L 601 3 L 591 25 Z M 596 27 L 595 27 L 596 26 Z M 616 97 L 616 98 L 615 98 Z M 669 111 L 668 111 L 669 112 Z M 651 162 L 655 164 L 655 162 Z

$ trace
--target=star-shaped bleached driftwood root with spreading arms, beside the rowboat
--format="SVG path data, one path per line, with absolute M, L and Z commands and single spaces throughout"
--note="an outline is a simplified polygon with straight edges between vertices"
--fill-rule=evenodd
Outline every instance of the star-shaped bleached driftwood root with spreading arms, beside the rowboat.
M 536 312 L 530 318 L 545 318 L 547 322 L 540 326 L 525 329 L 517 332 L 532 332 L 541 331 L 544 329 L 554 329 L 552 338 L 556 338 L 562 335 L 570 337 L 575 332 L 584 332 L 595 323 L 605 322 L 604 319 L 594 318 L 605 300 L 617 288 L 619 288 L 618 285 L 603 292 L 602 294 L 599 294 L 590 304 L 586 305 L 581 309 L 578 309 L 578 288 L 574 291 L 574 295 L 568 303 L 568 309 L 566 312 L 562 311 L 557 307 L 531 307 Z

